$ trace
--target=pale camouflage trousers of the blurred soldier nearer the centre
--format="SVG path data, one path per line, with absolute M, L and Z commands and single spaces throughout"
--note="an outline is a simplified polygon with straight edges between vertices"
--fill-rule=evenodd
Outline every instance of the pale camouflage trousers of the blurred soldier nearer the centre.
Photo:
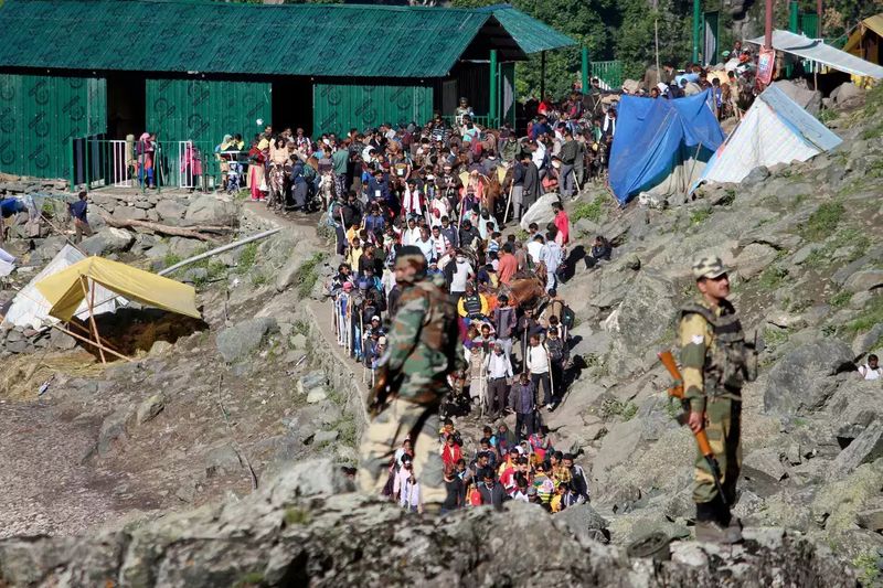
M 423 504 L 442 504 L 444 463 L 438 445 L 438 407 L 395 398 L 369 425 L 360 448 L 359 482 L 366 494 L 380 495 L 396 449 L 407 435 L 414 445 L 414 477 L 421 484 Z

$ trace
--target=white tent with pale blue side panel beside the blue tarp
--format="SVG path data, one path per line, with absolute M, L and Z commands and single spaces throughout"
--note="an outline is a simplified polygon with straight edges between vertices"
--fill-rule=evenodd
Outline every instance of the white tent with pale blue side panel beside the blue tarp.
M 806 161 L 841 142 L 840 137 L 773 85 L 754 100 L 705 165 L 700 182 L 741 182 L 759 165 Z

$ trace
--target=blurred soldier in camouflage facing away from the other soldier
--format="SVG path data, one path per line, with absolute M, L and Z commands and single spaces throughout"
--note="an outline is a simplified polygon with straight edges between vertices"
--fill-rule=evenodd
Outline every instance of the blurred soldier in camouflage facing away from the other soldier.
M 371 398 L 380 413 L 362 441 L 359 477 L 365 492 L 380 494 L 390 460 L 409 435 L 424 511 L 434 512 L 446 496 L 438 407 L 449 391 L 448 374 L 465 367 L 457 310 L 444 289 L 444 277 L 440 282 L 426 279 L 426 258 L 419 248 L 398 250 L 395 278 L 402 297 L 387 334 L 387 352 L 380 361 L 391 383 L 390 398 Z

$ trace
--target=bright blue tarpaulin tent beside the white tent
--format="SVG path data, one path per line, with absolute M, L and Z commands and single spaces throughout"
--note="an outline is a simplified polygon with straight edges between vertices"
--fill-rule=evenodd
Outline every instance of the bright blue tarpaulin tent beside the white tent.
M 620 204 L 661 184 L 687 193 L 724 140 L 712 100 L 711 90 L 674 100 L 623 97 L 610 151 L 610 189 Z M 677 182 L 667 182 L 673 175 Z

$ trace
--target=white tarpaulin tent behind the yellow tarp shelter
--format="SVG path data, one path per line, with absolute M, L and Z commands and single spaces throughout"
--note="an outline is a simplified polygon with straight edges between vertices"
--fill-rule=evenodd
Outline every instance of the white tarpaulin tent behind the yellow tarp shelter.
M 12 300 L 12 306 L 9 307 L 9 312 L 7 312 L 3 322 L 14 324 L 15 327 L 31 327 L 33 329 L 45 329 L 53 323 L 58 322 L 57 319 L 49 316 L 49 310 L 52 308 L 52 304 L 50 304 L 46 298 L 40 293 L 40 290 L 38 290 L 34 285 L 39 284 L 49 276 L 54 276 L 63 269 L 67 269 L 72 265 L 76 264 L 77 261 L 82 261 L 85 258 L 86 256 L 83 255 L 78 249 L 72 247 L 71 245 L 65 245 L 64 248 L 58 252 L 58 255 L 56 255 L 40 274 L 38 274 L 30 282 L 28 282 L 28 286 L 22 288 L 19 293 L 15 295 L 15 298 Z M 94 314 L 114 312 L 117 308 L 124 307 L 127 303 L 128 301 L 125 298 L 96 284 Z M 78 319 L 87 319 L 88 301 L 84 300 L 83 303 L 76 309 L 76 313 L 74 316 Z

